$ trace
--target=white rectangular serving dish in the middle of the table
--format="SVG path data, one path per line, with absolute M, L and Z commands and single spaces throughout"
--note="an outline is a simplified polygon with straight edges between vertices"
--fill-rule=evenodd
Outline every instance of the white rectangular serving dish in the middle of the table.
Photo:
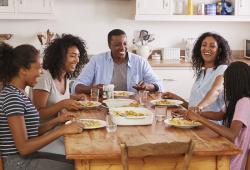
M 138 116 L 126 115 L 126 111 L 143 114 Z M 109 110 L 113 121 L 117 125 L 150 125 L 153 123 L 154 115 L 147 108 L 143 107 L 118 107 Z

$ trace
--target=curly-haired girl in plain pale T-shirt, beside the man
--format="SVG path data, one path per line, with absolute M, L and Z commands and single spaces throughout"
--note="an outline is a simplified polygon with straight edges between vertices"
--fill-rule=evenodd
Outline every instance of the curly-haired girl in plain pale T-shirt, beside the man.
M 42 121 L 50 120 L 58 113 L 82 109 L 77 100 L 85 95 L 70 95 L 69 78 L 76 77 L 87 62 L 86 44 L 79 37 L 66 34 L 47 46 L 43 73 L 31 93 Z M 42 151 L 64 154 L 64 146 L 57 140 Z

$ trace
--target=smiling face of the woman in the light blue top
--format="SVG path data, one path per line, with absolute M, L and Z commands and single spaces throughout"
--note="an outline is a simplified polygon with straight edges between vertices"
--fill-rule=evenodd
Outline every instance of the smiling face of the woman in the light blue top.
M 218 53 L 218 44 L 217 41 L 209 36 L 206 37 L 201 43 L 201 55 L 204 60 L 204 64 L 209 66 L 214 66 L 216 56 Z

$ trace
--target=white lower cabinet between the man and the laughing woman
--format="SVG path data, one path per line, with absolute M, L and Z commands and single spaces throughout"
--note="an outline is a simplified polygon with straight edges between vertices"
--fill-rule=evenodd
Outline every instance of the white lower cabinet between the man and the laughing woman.
M 164 91 L 173 92 L 188 100 L 194 83 L 194 72 L 191 67 L 153 67 L 156 75 L 162 80 Z

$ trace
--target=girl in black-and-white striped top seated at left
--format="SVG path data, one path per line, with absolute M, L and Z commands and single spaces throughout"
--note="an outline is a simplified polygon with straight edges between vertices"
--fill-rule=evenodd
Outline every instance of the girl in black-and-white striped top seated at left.
M 51 130 L 70 120 L 74 116 L 70 113 L 40 124 L 39 113 L 24 89 L 36 84 L 41 68 L 39 51 L 33 46 L 12 48 L 0 44 L 0 82 L 3 82 L 0 92 L 0 154 L 5 170 L 73 169 L 73 164 L 63 155 L 38 152 L 60 136 L 83 130 L 83 126 L 76 122 Z

